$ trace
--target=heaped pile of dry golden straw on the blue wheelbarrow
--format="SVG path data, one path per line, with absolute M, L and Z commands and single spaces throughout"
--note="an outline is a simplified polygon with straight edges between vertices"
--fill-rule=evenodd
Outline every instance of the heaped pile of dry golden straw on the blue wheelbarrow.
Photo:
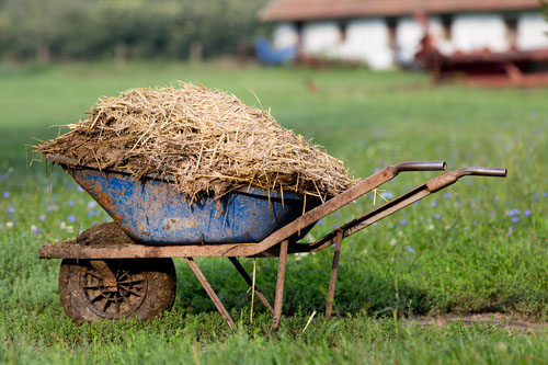
M 249 186 L 327 198 L 352 184 L 340 160 L 218 90 L 132 89 L 100 99 L 87 114 L 34 149 L 139 179 L 169 176 L 192 198 Z

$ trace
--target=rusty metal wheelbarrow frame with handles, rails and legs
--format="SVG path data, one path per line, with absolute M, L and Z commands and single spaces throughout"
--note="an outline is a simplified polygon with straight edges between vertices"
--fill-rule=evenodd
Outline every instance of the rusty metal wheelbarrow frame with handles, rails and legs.
M 458 179 L 465 175 L 483 175 L 483 176 L 505 176 L 506 169 L 490 169 L 490 168 L 464 168 L 456 171 L 445 172 L 426 183 L 411 190 L 410 192 L 364 214 L 361 215 L 341 228 L 320 238 L 311 243 L 289 242 L 289 238 L 305 229 L 306 227 L 317 223 L 324 216 L 335 212 L 342 206 L 355 201 L 356 198 L 367 194 L 377 186 L 393 179 L 402 171 L 438 171 L 445 170 L 445 162 L 403 162 L 393 166 L 388 166 L 379 170 L 375 174 L 365 179 L 361 183 L 354 185 L 347 191 L 339 194 L 322 205 L 304 214 L 299 218 L 274 231 L 259 243 L 233 243 L 233 244 L 202 244 L 202 246 L 146 246 L 128 244 L 117 246 L 80 246 L 76 240 L 66 240 L 59 243 L 44 244 L 39 248 L 39 256 L 43 259 L 146 259 L 146 258 L 184 258 L 186 263 L 198 278 L 199 283 L 212 298 L 216 308 L 225 318 L 230 328 L 236 328 L 236 323 L 230 318 L 230 315 L 222 306 L 215 290 L 212 288 L 199 267 L 194 262 L 194 256 L 228 256 L 243 280 L 251 285 L 251 278 L 246 270 L 241 266 L 237 256 L 262 256 L 262 258 L 278 258 L 278 270 L 276 281 L 276 293 L 274 298 L 274 308 L 269 304 L 264 295 L 255 287 L 255 294 L 261 303 L 269 309 L 273 317 L 271 330 L 277 331 L 282 319 L 283 297 L 285 287 L 287 254 L 295 252 L 316 252 L 335 243 L 333 254 L 333 264 L 331 267 L 331 277 L 326 306 L 326 318 L 332 316 L 334 292 L 336 276 L 339 270 L 340 251 L 342 240 L 357 231 L 370 226 L 372 224 L 409 206 L 410 204 L 422 199 L 423 197 L 444 189 Z

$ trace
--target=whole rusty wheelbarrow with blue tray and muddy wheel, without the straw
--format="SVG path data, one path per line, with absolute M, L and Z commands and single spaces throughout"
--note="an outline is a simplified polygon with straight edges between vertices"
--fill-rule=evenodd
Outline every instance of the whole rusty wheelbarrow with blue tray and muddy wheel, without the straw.
M 321 202 L 310 196 L 244 190 L 221 198 L 205 196 L 192 204 L 169 184 L 169 176 L 137 180 L 127 172 L 79 166 L 49 156 L 114 219 L 77 239 L 44 244 L 42 259 L 62 259 L 59 295 L 77 323 L 136 316 L 148 319 L 171 309 L 175 297 L 172 258 L 184 258 L 215 307 L 236 328 L 227 309 L 194 258 L 228 258 L 279 327 L 287 254 L 334 246 L 326 318 L 333 309 L 343 239 L 435 193 L 466 175 L 505 176 L 506 169 L 464 168 L 444 172 L 406 194 L 364 213 L 313 242 L 302 242 L 321 218 L 407 171 L 443 171 L 444 161 L 388 166 L 343 193 Z M 278 258 L 274 306 L 254 285 L 238 258 Z

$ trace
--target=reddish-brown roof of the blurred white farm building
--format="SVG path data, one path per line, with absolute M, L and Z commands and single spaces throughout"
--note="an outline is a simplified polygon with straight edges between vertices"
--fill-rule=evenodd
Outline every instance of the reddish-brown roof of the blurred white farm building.
M 271 0 L 265 22 L 540 9 L 540 0 Z

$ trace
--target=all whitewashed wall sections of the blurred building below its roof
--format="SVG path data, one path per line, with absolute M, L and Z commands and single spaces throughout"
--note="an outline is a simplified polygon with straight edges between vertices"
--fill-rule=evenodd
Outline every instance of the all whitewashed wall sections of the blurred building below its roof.
M 496 13 L 456 14 L 450 22 L 450 30 L 444 28 L 439 16 L 431 16 L 429 32 L 437 49 L 445 55 L 457 50 L 470 53 L 483 49 L 500 53 L 511 47 L 504 18 Z M 517 48 L 529 50 L 548 47 L 547 32 L 548 23 L 543 14 L 518 14 Z M 390 45 L 390 32 L 381 18 L 350 21 L 344 33 L 338 21 L 305 23 L 300 34 L 301 50 L 318 57 L 364 62 L 373 69 L 387 69 L 393 67 L 396 60 L 412 61 L 424 36 L 422 24 L 411 16 L 397 21 L 396 49 Z M 298 42 L 295 24 L 281 23 L 276 26 L 274 47 L 286 48 Z

